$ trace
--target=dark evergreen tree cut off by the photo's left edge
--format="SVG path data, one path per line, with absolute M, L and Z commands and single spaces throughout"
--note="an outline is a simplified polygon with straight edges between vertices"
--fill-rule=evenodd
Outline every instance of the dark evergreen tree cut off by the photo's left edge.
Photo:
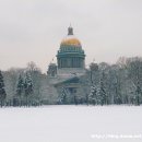
M 2 75 L 2 72 L 0 71 L 0 102 L 1 102 L 1 107 L 4 104 L 5 97 L 7 97 L 7 93 L 5 93 L 5 90 L 4 90 L 3 75 Z

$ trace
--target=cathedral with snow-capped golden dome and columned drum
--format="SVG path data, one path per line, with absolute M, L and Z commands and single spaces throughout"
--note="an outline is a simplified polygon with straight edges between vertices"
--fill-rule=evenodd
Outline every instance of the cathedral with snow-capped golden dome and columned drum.
M 47 71 L 50 95 L 56 95 L 57 99 L 66 95 L 69 104 L 74 103 L 75 99 L 84 99 L 85 94 L 80 78 L 86 71 L 85 52 L 71 26 L 68 28 L 67 37 L 61 40 L 56 57 L 57 64 L 50 63 Z

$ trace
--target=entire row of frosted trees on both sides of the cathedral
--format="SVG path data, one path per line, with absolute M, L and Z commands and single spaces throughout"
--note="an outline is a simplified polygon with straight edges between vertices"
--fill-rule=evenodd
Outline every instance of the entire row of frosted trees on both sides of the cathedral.
M 36 106 L 42 104 L 67 104 L 68 91 L 62 88 L 57 97 L 49 94 L 48 79 L 34 62 L 26 69 L 0 71 L 1 106 Z M 85 97 L 68 104 L 86 105 L 141 105 L 142 58 L 121 57 L 115 64 L 92 62 L 79 83 Z M 46 95 L 46 100 L 44 95 Z M 82 94 L 80 94 L 82 96 Z

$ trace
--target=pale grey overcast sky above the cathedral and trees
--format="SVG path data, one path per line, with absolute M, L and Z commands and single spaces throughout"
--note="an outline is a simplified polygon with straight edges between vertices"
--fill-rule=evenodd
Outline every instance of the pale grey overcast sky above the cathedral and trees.
M 86 64 L 142 56 L 142 0 L 0 0 L 1 70 L 34 61 L 45 72 L 70 23 Z

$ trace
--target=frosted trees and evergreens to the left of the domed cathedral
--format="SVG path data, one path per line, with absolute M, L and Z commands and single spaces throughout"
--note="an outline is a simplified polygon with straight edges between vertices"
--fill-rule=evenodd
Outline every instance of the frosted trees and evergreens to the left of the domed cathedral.
M 4 76 L 4 78 L 3 78 Z M 0 71 L 0 105 L 37 106 L 42 72 L 34 62 L 25 69 Z

